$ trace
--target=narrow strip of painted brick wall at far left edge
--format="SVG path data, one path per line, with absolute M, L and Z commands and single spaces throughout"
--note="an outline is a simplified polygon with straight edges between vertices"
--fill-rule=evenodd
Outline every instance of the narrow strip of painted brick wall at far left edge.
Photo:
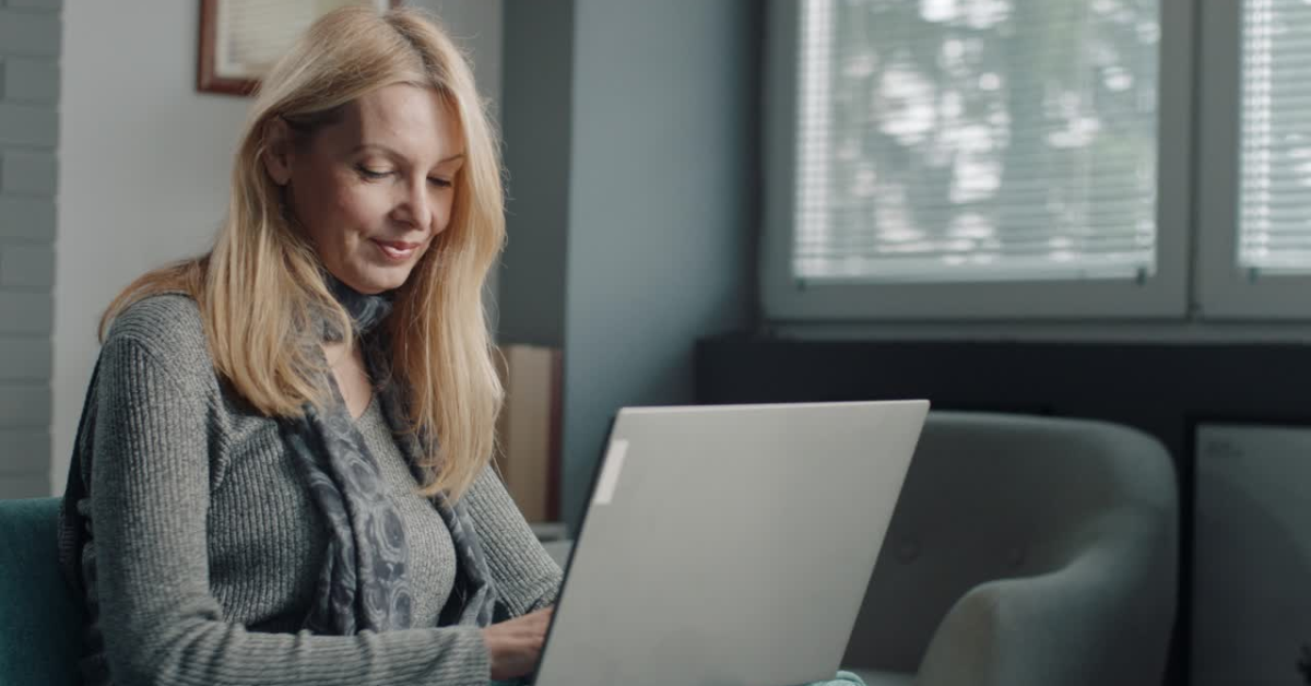
M 0 498 L 47 496 L 60 0 L 0 0 Z

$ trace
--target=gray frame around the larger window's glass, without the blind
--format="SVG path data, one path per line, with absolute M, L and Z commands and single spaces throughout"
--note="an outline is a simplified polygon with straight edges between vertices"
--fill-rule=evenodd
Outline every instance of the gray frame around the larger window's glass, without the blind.
M 760 299 L 770 321 L 1184 319 L 1189 308 L 1192 0 L 1160 0 L 1156 273 L 1145 279 L 800 283 L 796 199 L 797 0 L 770 0 L 763 79 Z M 1172 126 L 1163 126 L 1171 122 Z

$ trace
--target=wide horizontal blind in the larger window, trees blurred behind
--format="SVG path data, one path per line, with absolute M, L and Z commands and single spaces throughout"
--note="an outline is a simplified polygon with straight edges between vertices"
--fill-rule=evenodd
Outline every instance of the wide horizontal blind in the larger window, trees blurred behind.
M 804 0 L 793 275 L 1154 274 L 1159 18 L 1159 0 Z

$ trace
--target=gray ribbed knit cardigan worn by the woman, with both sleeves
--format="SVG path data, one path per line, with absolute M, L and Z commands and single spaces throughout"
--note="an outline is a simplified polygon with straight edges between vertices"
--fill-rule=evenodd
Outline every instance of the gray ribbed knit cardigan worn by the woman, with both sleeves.
M 194 300 L 156 295 L 123 312 L 97 386 L 85 512 L 94 555 L 80 571 L 98 605 L 88 673 L 118 686 L 486 686 L 473 626 L 299 631 L 328 534 L 277 421 L 215 374 Z M 497 476 L 484 471 L 465 498 L 509 614 L 555 602 L 560 567 Z

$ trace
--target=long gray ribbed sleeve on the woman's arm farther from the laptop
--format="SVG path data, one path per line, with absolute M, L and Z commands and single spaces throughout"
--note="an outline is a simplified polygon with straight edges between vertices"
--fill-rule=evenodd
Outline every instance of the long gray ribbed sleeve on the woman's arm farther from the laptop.
M 186 369 L 193 365 L 128 334 L 111 334 L 102 350 L 90 492 L 100 628 L 114 683 L 486 686 L 476 627 L 315 636 L 253 632 L 224 619 L 210 593 L 206 544 L 210 455 L 222 446 L 206 421 L 212 400 L 187 383 L 212 370 Z M 518 544 L 522 533 L 509 536 Z M 493 569 L 513 575 L 505 547 L 492 546 Z M 544 588 L 539 567 L 528 586 L 506 584 L 517 602 L 530 586 Z

